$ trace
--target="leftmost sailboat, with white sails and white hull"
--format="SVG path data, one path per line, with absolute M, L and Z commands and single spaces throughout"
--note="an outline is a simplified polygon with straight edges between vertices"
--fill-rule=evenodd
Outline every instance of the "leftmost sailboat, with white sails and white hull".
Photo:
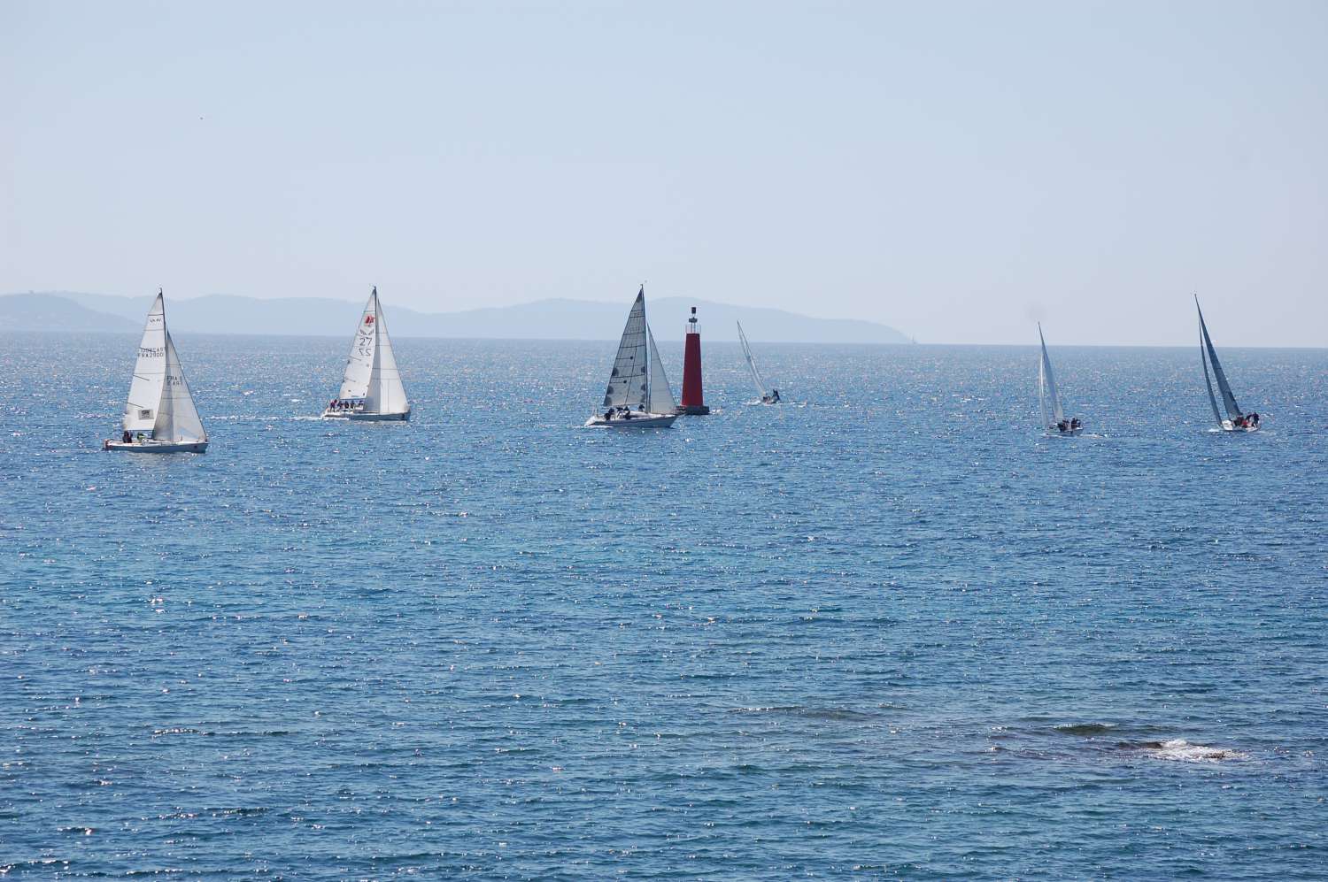
M 185 382 L 175 344 L 166 330 L 166 305 L 159 288 L 147 310 L 121 424 L 120 440 L 105 442 L 104 450 L 138 454 L 202 454 L 207 450 L 207 432 Z

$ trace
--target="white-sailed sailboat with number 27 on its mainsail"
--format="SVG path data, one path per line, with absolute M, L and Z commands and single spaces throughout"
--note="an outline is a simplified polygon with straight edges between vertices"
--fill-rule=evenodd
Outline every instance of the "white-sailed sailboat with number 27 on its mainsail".
M 388 321 L 378 304 L 378 286 L 373 286 L 369 302 L 355 330 L 351 355 L 345 359 L 341 390 L 328 402 L 324 419 L 410 419 L 397 357 L 392 353 Z

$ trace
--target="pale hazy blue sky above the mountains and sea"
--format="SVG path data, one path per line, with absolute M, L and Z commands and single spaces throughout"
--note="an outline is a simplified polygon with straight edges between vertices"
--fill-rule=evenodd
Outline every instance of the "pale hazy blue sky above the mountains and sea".
M 0 3 L 0 293 L 1328 346 L 1328 3 Z

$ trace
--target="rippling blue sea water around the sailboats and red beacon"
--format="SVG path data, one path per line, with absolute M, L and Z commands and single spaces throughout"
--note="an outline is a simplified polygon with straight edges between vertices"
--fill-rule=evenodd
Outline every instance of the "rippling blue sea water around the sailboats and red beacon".
M 1328 351 L 178 336 L 206 455 L 106 454 L 135 340 L 0 354 L 0 875 L 1328 878 Z M 680 351 L 665 347 L 679 386 Z

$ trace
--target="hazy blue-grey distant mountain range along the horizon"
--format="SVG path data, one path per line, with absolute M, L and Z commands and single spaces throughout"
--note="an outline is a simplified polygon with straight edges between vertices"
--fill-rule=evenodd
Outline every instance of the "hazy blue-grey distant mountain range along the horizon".
M 70 290 L 0 296 L 0 326 L 9 330 L 131 332 L 142 328 L 151 296 L 117 297 Z M 622 302 L 537 300 L 515 306 L 422 313 L 384 302 L 396 337 L 498 340 L 618 340 L 631 298 Z M 782 309 L 734 306 L 681 297 L 647 298 L 651 329 L 661 340 L 681 340 L 689 309 L 697 308 L 706 340 L 737 340 L 736 321 L 748 337 L 764 342 L 906 344 L 886 325 L 842 318 L 811 318 Z M 178 332 L 212 334 L 297 334 L 347 337 L 363 304 L 324 297 L 260 300 L 207 294 L 166 300 L 166 318 Z

